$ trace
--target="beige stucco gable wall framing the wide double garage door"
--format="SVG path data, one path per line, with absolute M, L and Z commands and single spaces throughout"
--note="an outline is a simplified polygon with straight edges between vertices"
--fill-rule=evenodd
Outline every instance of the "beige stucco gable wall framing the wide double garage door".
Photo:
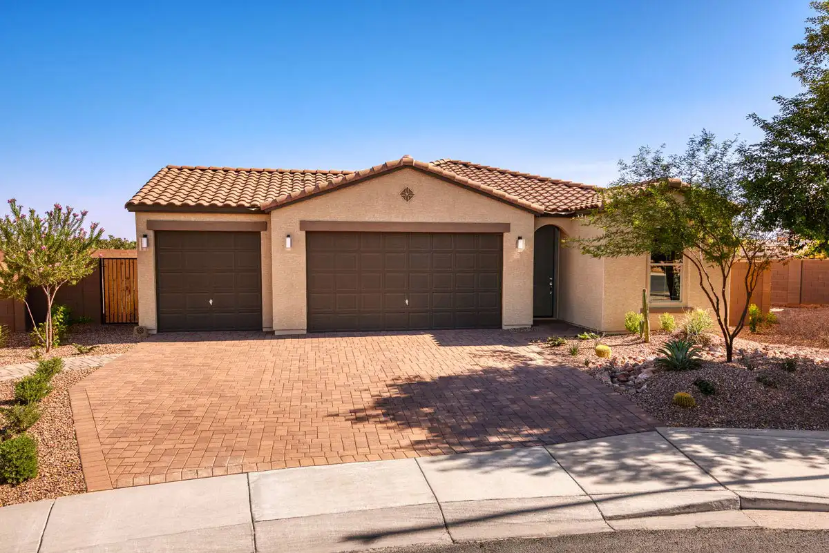
M 414 199 L 406 203 L 400 190 Z M 306 319 L 305 233 L 302 220 L 406 221 L 430 223 L 509 223 L 503 244 L 503 319 L 505 328 L 532 324 L 532 244 L 535 216 L 410 167 L 365 180 L 330 194 L 289 204 L 271 212 L 274 329 L 304 332 Z M 285 236 L 292 237 L 291 249 Z M 526 248 L 518 252 L 521 236 Z

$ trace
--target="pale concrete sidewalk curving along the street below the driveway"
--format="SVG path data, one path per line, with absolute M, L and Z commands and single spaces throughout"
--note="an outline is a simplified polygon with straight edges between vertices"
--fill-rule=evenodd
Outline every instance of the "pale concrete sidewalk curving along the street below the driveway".
M 120 488 L 3 507 L 0 551 L 359 551 L 688 527 L 829 528 L 829 433 L 662 429 Z

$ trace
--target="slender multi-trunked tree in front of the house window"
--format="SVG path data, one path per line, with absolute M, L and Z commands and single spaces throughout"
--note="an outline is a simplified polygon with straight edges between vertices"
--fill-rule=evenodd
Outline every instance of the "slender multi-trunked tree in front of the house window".
M 717 142 L 706 131 L 691 137 L 681 154 L 642 147 L 629 163 L 619 162 L 619 179 L 604 191 L 602 207 L 586 218 L 604 233 L 570 240 L 593 257 L 682 252 L 714 308 L 728 361 L 754 288 L 771 261 L 772 237 L 744 199 L 739 148 L 735 139 Z M 736 262 L 747 263 L 748 271 L 731 286 L 744 286 L 748 301 L 732 329 L 728 283 Z

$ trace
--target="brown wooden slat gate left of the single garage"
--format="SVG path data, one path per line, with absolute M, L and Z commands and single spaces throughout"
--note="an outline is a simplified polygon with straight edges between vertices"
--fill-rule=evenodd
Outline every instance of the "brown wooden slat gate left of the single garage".
M 138 260 L 101 259 L 104 323 L 138 323 Z

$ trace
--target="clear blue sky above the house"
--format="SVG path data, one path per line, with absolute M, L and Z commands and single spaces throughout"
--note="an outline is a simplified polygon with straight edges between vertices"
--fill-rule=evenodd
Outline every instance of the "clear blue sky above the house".
M 639 146 L 759 135 L 806 0 L 2 2 L 0 196 L 124 209 L 167 164 L 410 154 L 604 185 Z

